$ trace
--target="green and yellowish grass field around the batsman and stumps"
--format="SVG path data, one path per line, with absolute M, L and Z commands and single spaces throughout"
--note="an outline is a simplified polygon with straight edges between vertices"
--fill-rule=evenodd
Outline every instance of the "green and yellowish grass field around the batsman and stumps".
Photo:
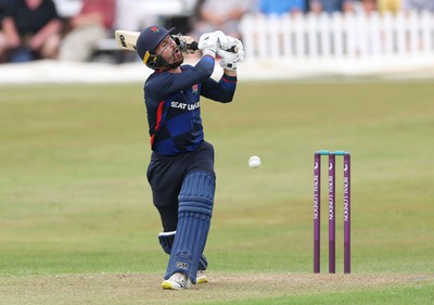
M 151 275 L 156 284 L 149 293 L 161 293 L 167 256 L 156 240 L 159 217 L 145 179 L 150 149 L 141 88 L 1 88 L 0 282 L 11 291 L 43 282 L 52 291 L 51 298 L 41 294 L 28 304 L 59 304 L 53 300 L 64 287 L 53 282 L 60 275 Z M 188 292 L 190 304 L 433 302 L 433 97 L 432 84 L 240 81 L 233 103 L 203 100 L 205 138 L 216 149 L 217 194 L 206 246 L 216 279 L 311 274 L 312 153 L 329 149 L 352 152 L 353 274 L 367 281 L 373 275 L 427 280 L 359 290 L 355 282 L 317 292 L 312 278 L 291 292 L 276 289 L 265 301 L 243 281 L 237 291 L 219 290 L 217 282 L 200 288 L 201 295 Z M 261 157 L 260 168 L 247 166 L 251 155 Z M 341 171 L 339 158 L 339 200 Z M 341 214 L 337 205 L 337 272 Z M 326 271 L 326 213 L 321 220 Z M 87 296 L 91 304 L 127 304 L 104 300 L 113 283 L 101 283 L 101 293 Z M 263 288 L 275 291 L 271 285 Z M 219 303 L 203 298 L 208 291 L 218 292 Z M 4 293 L 11 298 L 0 304 L 15 295 Z M 73 300 L 65 304 L 79 304 Z

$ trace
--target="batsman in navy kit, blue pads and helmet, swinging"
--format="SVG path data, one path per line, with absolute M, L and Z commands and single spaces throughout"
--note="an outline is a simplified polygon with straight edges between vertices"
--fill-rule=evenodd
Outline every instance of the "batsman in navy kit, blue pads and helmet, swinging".
M 220 103 L 232 101 L 244 50 L 240 40 L 220 30 L 206 33 L 197 43 L 202 59 L 194 66 L 182 65 L 181 36 L 173 35 L 174 29 L 146 27 L 136 48 L 154 69 L 144 82 L 152 149 L 146 177 L 164 230 L 158 240 L 170 255 L 162 288 L 183 290 L 207 281 L 203 252 L 216 190 L 214 148 L 204 138 L 201 96 Z M 233 47 L 238 52 L 226 51 Z M 216 55 L 224 68 L 218 81 L 210 77 Z

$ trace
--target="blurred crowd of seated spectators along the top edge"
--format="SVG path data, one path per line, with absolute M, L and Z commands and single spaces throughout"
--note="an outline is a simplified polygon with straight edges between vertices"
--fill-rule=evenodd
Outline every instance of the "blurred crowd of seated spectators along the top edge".
M 115 29 L 139 31 L 152 24 L 196 39 L 216 29 L 241 38 L 239 25 L 247 13 L 414 10 L 434 12 L 434 0 L 0 0 L 0 63 L 95 61 L 104 52 L 99 41 L 113 38 Z

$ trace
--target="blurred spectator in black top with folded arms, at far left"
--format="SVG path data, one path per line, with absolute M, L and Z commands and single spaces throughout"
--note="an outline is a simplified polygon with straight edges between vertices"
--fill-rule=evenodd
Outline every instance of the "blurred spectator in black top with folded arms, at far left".
M 0 56 L 3 61 L 56 58 L 62 22 L 52 0 L 11 1 L 1 26 Z

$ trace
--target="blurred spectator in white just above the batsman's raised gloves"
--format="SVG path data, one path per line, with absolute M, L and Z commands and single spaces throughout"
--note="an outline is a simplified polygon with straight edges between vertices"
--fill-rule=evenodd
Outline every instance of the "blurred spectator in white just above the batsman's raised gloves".
M 220 29 L 229 36 L 240 38 L 240 22 L 254 3 L 252 0 L 199 0 L 199 18 L 193 25 L 191 36 L 199 38 L 204 33 Z

